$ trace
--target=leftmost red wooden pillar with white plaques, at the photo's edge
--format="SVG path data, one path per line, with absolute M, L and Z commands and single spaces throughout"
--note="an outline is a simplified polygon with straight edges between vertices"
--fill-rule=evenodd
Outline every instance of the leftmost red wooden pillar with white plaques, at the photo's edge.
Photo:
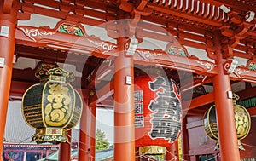
M 3 135 L 9 89 L 15 52 L 15 26 L 18 1 L 0 0 L 0 153 L 3 152 Z M 0 155 L 2 156 L 2 155 Z M 1 158 L 1 157 L 0 157 Z

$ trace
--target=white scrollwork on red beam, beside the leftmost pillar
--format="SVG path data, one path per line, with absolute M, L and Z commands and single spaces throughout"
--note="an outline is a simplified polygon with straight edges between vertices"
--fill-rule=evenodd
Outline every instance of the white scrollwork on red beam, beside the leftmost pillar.
M 25 35 L 27 37 L 29 37 L 30 39 L 32 39 L 34 42 L 37 42 L 35 37 L 38 37 L 38 36 L 47 36 L 47 35 L 53 35 L 55 34 L 56 32 L 40 32 L 38 31 L 38 29 L 27 29 L 27 28 L 23 28 L 23 27 L 18 27 L 22 32 L 25 33 Z

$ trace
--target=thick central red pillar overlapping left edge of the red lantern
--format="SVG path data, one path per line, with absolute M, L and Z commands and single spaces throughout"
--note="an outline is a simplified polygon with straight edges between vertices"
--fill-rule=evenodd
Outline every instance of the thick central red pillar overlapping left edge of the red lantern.
M 125 55 L 125 37 L 118 38 L 114 69 L 114 160 L 135 160 L 133 59 Z M 131 77 L 131 84 L 125 80 Z

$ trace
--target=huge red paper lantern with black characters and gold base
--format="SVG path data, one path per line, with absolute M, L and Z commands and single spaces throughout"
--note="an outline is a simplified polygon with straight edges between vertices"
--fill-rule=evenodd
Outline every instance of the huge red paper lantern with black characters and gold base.
M 161 76 L 135 78 L 135 132 L 140 154 L 163 154 L 181 133 L 177 83 Z

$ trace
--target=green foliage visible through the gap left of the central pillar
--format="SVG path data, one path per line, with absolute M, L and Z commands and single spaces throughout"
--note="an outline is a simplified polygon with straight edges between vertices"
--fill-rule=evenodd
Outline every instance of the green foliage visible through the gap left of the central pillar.
M 96 131 L 96 151 L 108 149 L 109 142 L 105 137 L 106 137 L 106 135 L 104 134 L 104 132 L 102 132 L 101 129 L 97 129 L 97 131 Z

